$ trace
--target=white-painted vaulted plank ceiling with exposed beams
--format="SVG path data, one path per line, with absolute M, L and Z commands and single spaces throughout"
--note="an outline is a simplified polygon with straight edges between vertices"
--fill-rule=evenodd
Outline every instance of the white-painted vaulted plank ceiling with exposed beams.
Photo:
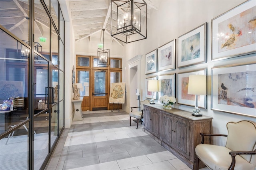
M 49 3 L 49 0 L 45 0 Z M 62 1 L 62 0 L 60 0 Z M 144 0 L 147 4 L 147 17 L 150 18 L 150 10 L 157 10 L 157 0 Z M 58 4 L 57 1 L 51 2 L 51 10 L 55 9 Z M 53 4 L 54 3 L 54 4 Z M 110 36 L 110 13 L 111 0 L 69 0 L 69 10 L 71 13 L 72 25 L 74 28 L 75 40 L 83 40 L 85 38 L 91 39 L 92 36 L 100 37 L 102 40 L 102 29 L 105 29 L 104 36 L 108 36 L 112 41 L 116 41 L 120 45 L 123 43 Z M 35 0 L 35 29 L 44 34 L 44 28 L 50 28 L 49 20 L 47 20 L 46 13 L 42 11 L 38 5 L 40 0 Z M 49 4 L 46 4 L 48 7 Z M 55 7 L 54 7 L 55 6 Z M 57 21 L 56 13 L 52 13 L 52 18 Z M 0 24 L 6 29 L 12 31 L 18 28 L 23 32 L 23 28 L 27 27 L 27 20 L 29 16 L 29 1 L 28 0 L 0 0 Z M 54 28 L 52 28 L 54 29 Z M 23 34 L 27 34 L 24 33 Z

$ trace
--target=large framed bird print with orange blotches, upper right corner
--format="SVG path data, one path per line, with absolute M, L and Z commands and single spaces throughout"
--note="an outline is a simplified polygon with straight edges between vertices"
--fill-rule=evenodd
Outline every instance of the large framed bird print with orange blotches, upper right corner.
M 212 61 L 256 52 L 255 14 L 249 0 L 212 19 Z

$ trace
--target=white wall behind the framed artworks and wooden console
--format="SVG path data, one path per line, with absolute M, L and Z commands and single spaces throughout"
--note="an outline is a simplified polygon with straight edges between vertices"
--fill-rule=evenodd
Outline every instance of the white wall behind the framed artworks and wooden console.
M 148 38 L 146 40 L 129 43 L 126 45 L 125 60 L 128 61 L 136 55 L 143 55 L 141 59 L 141 79 L 140 84 L 143 89 L 143 99 L 145 99 L 145 78 L 156 76 L 156 74 L 145 75 L 145 54 L 170 42 L 178 39 L 186 32 L 208 23 L 207 40 L 207 63 L 176 68 L 173 71 L 166 71 L 162 74 L 174 74 L 184 71 L 208 68 L 208 109 L 201 109 L 203 115 L 213 117 L 213 132 L 227 134 L 226 123 L 229 121 L 252 120 L 255 118 L 234 115 L 230 113 L 212 111 L 211 107 L 211 68 L 222 65 L 232 65 L 237 63 L 247 63 L 256 61 L 256 54 L 225 59 L 221 61 L 211 61 L 211 20 L 220 14 L 234 8 L 244 2 L 244 0 L 153 0 L 157 4 L 158 10 L 151 10 L 148 19 Z M 177 64 L 176 64 L 177 65 Z M 128 80 L 129 77 L 126 77 Z M 127 82 L 127 81 L 126 81 Z M 192 111 L 193 107 L 186 105 L 174 105 L 175 108 Z M 214 144 L 224 145 L 225 138 L 214 138 Z

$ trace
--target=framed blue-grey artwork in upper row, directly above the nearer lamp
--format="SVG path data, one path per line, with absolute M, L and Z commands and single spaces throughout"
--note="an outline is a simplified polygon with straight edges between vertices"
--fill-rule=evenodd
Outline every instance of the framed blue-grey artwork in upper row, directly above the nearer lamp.
M 178 37 L 178 67 L 206 62 L 207 23 Z

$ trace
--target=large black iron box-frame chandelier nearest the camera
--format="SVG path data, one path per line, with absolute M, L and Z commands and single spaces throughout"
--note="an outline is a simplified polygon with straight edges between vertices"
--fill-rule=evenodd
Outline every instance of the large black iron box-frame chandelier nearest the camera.
M 144 0 L 111 0 L 111 36 L 124 43 L 147 38 Z

